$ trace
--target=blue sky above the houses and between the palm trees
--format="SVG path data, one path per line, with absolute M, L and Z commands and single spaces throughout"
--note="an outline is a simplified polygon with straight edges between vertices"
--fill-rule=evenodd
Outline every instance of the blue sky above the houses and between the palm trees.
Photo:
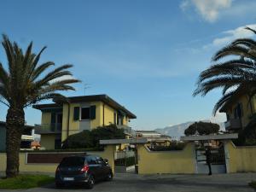
M 193 97 L 201 70 L 234 38 L 253 34 L 253 0 L 1 1 L 0 32 L 22 48 L 48 46 L 42 61 L 73 63 L 73 76 L 90 84 L 86 95 L 108 94 L 137 114 L 131 125 L 150 130 L 212 118 L 220 92 Z M 3 49 L 0 61 L 6 66 Z M 66 96 L 84 95 L 84 83 Z M 7 108 L 0 105 L 0 120 Z M 26 108 L 26 122 L 40 123 Z

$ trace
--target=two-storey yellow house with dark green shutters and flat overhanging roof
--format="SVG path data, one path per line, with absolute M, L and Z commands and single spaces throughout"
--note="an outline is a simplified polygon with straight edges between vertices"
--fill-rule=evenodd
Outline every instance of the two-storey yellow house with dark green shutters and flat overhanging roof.
M 99 126 L 113 124 L 129 129 L 130 119 L 137 118 L 107 95 L 72 96 L 54 102 L 33 106 L 42 112 L 36 133 L 41 135 L 41 146 L 46 149 L 61 148 L 68 136 Z

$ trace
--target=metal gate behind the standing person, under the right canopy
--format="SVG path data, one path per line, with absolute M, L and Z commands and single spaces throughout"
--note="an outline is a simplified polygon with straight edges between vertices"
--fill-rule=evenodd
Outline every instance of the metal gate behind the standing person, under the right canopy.
M 211 153 L 212 153 L 212 173 L 226 173 L 224 147 L 212 148 Z M 196 172 L 207 174 L 209 170 L 207 166 L 206 149 L 196 148 L 195 156 L 196 156 Z

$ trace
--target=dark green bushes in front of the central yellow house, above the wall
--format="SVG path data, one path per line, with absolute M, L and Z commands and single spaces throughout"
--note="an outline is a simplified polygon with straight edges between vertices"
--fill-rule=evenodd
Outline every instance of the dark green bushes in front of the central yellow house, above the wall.
M 92 131 L 82 131 L 73 134 L 62 143 L 62 148 L 102 148 L 99 141 L 102 139 L 124 139 L 123 129 L 116 125 L 100 126 Z

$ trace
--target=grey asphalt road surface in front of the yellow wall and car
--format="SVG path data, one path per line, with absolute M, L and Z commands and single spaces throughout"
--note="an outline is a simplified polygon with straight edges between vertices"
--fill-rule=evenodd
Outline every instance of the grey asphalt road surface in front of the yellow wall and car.
M 254 191 L 247 183 L 256 180 L 256 173 L 218 174 L 218 175 L 136 175 L 131 173 L 116 174 L 112 182 L 96 183 L 94 192 L 196 192 L 196 191 Z M 8 190 L 0 190 L 8 191 Z M 11 191 L 84 191 L 83 188 L 55 189 L 54 184 L 38 189 L 11 190 Z

